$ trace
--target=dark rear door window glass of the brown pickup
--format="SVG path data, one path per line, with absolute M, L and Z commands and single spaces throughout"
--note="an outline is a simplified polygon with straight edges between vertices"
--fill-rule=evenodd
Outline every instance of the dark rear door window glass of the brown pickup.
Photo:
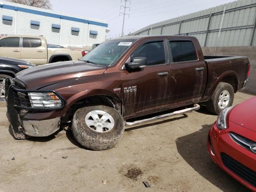
M 192 41 L 170 41 L 173 62 L 197 60 L 196 50 Z

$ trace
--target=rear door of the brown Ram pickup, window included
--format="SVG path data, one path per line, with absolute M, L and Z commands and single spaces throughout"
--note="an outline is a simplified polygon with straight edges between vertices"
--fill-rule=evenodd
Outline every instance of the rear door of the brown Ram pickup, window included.
M 199 102 L 207 81 L 207 68 L 200 45 L 194 38 L 170 39 L 168 45 L 172 58 L 170 62 L 172 105 Z

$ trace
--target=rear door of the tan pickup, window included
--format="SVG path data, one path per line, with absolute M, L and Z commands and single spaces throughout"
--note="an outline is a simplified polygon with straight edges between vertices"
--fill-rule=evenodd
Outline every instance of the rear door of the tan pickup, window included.
M 46 46 L 40 38 L 22 37 L 21 59 L 34 64 L 45 64 Z

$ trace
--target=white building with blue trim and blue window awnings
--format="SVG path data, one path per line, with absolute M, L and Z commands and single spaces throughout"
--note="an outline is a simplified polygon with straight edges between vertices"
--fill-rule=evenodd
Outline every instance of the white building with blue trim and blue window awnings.
M 52 10 L 1 2 L 0 34 L 43 35 L 48 44 L 90 47 L 105 41 L 104 20 L 59 14 Z

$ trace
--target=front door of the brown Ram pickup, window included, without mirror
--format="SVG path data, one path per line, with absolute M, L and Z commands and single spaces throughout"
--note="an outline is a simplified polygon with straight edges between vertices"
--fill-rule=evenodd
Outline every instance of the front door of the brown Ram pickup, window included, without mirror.
M 151 40 L 140 44 L 131 60 L 146 57 L 147 65 L 137 71 L 122 70 L 122 98 L 125 117 L 151 113 L 168 105 L 169 73 L 166 41 Z

